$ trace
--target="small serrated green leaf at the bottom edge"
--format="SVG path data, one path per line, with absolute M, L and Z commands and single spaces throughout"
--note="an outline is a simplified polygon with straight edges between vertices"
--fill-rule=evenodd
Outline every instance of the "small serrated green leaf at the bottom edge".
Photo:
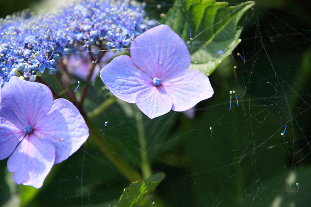
M 118 207 L 137 206 L 149 193 L 164 179 L 165 173 L 158 172 L 152 174 L 144 181 L 132 182 L 129 187 L 124 188 L 123 194 L 117 204 Z

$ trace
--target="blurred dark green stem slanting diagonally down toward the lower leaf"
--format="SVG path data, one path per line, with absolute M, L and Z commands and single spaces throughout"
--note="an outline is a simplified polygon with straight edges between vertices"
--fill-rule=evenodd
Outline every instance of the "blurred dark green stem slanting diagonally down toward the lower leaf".
M 89 138 L 101 149 L 101 151 L 114 164 L 114 166 L 123 174 L 123 176 L 131 182 L 141 180 L 141 175 L 138 174 L 126 160 L 118 156 L 117 153 L 112 150 L 111 146 L 109 146 L 109 149 L 107 148 L 108 144 L 106 143 L 106 137 L 100 133 L 95 124 L 91 121 L 87 121 L 87 125 L 92 129 L 90 130 Z

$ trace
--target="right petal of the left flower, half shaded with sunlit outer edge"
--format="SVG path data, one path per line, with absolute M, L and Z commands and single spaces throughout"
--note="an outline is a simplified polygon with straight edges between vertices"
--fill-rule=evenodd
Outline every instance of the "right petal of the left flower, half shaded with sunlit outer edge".
M 89 128 L 78 109 L 66 99 L 57 99 L 49 113 L 33 128 L 37 137 L 55 146 L 55 164 L 66 160 L 89 137 Z

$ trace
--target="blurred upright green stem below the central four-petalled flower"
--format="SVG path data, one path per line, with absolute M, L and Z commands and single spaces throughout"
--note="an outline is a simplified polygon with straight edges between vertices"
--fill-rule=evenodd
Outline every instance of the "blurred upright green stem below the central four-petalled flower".
M 140 146 L 140 155 L 142 157 L 142 164 L 141 164 L 142 177 L 143 179 L 146 179 L 147 177 L 149 177 L 151 173 L 151 166 L 148 161 L 147 143 L 144 130 L 144 123 L 142 120 L 142 112 L 137 107 L 135 107 L 135 118 L 138 132 L 138 141 Z

